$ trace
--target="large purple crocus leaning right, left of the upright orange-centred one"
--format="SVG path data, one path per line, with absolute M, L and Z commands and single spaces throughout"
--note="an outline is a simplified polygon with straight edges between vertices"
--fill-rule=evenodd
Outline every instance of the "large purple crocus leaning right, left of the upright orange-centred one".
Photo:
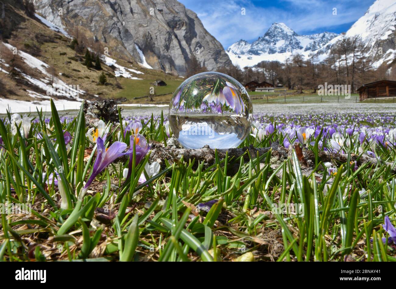
M 105 138 L 106 136 L 104 136 Z M 126 154 L 124 150 L 126 149 L 126 143 L 120 141 L 114 142 L 109 148 L 105 148 L 105 142 L 101 137 L 98 137 L 96 141 L 97 145 L 97 156 L 95 163 L 93 164 L 93 170 L 91 176 L 89 177 L 87 183 L 84 186 L 83 191 L 87 191 L 92 181 L 95 179 L 99 173 L 105 170 L 105 168 L 115 161 L 120 156 Z

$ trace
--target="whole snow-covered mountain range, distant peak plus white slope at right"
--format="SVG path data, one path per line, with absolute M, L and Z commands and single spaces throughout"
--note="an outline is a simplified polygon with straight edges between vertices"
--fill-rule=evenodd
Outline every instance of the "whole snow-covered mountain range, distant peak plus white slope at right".
M 232 63 L 241 67 L 254 66 L 261 61 L 285 62 L 292 54 L 305 58 L 316 54 L 324 60 L 329 51 L 343 38 L 359 37 L 369 48 L 374 66 L 389 63 L 396 56 L 396 0 L 376 0 L 351 28 L 341 35 L 322 32 L 299 35 L 284 23 L 273 23 L 262 37 L 253 43 L 240 40 L 227 49 Z M 379 53 L 379 50 L 381 53 Z

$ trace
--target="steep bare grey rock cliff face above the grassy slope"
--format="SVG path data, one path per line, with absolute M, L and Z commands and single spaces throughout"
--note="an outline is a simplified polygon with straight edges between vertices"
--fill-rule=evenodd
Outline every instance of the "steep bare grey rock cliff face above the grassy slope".
M 112 50 L 154 69 L 185 75 L 195 56 L 208 70 L 230 66 L 223 46 L 176 0 L 35 0 L 37 12 L 72 30 L 88 29 Z M 59 15 L 63 8 L 63 15 Z M 143 55 L 142 53 L 143 52 Z M 144 59 L 142 59 L 142 56 Z

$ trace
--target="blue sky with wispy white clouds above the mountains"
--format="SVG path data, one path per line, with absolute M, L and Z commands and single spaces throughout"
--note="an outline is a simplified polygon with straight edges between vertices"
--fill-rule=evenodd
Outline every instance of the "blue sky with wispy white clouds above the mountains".
M 227 49 L 239 39 L 254 41 L 274 22 L 298 34 L 346 32 L 374 0 L 179 0 L 197 13 L 206 30 Z M 245 15 L 241 9 L 245 8 Z M 337 15 L 333 15 L 337 8 Z

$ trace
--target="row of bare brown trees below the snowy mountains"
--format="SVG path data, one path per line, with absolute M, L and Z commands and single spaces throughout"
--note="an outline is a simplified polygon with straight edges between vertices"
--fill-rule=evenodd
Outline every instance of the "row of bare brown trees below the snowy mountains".
M 318 56 L 314 54 L 306 59 L 302 54 L 296 53 L 284 63 L 263 61 L 253 68 L 241 69 L 232 66 L 218 71 L 234 77 L 242 84 L 249 81 L 267 81 L 274 86 L 282 84 L 301 93 L 316 93 L 318 85 L 325 82 L 334 85 L 347 84 L 355 92 L 364 83 L 380 79 L 396 80 L 395 62 L 375 68 L 373 64 L 383 55 L 378 54 L 375 59 L 367 55 L 372 54 L 369 54 L 369 48 L 365 47 L 359 36 L 344 37 L 329 49 L 329 55 L 323 61 L 318 61 Z

